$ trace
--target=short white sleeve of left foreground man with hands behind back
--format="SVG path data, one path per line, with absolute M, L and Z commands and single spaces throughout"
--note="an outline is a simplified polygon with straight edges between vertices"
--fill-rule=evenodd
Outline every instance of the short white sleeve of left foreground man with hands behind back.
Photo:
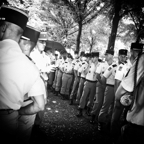
M 46 96 L 44 82 L 40 77 L 37 78 L 32 88 L 28 92 L 28 97 L 39 95 L 44 95 L 44 97 Z

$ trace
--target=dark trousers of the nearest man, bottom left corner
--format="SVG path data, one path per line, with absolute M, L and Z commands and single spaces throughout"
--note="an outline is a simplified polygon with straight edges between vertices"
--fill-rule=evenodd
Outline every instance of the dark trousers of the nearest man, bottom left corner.
M 3 143 L 17 143 L 18 111 L 0 110 L 0 140 Z

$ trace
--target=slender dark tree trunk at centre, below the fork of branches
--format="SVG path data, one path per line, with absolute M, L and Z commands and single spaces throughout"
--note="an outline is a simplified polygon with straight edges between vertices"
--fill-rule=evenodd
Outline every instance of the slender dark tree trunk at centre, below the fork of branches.
M 76 51 L 80 51 L 80 39 L 81 39 L 81 33 L 82 33 L 82 21 L 79 22 L 79 31 L 77 35 L 77 43 L 76 43 Z

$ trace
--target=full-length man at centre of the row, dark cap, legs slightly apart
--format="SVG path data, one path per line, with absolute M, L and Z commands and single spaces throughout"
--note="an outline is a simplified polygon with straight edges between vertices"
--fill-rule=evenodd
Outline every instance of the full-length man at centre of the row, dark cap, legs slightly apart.
M 86 74 L 86 81 L 84 84 L 83 93 L 80 99 L 80 103 L 78 106 L 78 117 L 81 117 L 83 115 L 83 110 L 85 106 L 87 106 L 87 113 L 89 114 L 91 107 L 94 102 L 94 96 L 96 93 L 96 69 L 98 66 L 98 58 L 99 58 L 99 52 L 93 52 L 92 53 L 92 63 L 89 64 L 87 68 L 87 74 Z M 87 102 L 88 99 L 88 102 Z

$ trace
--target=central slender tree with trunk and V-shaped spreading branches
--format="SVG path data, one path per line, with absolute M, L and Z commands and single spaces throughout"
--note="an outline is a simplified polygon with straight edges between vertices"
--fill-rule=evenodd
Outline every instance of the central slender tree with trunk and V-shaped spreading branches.
M 59 6 L 66 6 L 72 14 L 75 23 L 78 25 L 76 50 L 79 51 L 83 26 L 91 23 L 100 14 L 103 4 L 101 1 L 94 0 L 51 0 L 51 2 Z

